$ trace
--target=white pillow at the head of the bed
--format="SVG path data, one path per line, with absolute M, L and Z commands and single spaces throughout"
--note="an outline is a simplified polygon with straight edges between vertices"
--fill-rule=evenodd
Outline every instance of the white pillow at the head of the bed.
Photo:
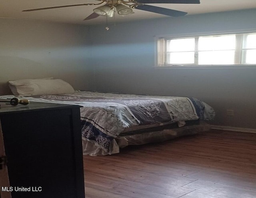
M 53 78 L 12 80 L 9 81 L 9 86 L 15 96 L 68 94 L 75 91 L 64 80 Z

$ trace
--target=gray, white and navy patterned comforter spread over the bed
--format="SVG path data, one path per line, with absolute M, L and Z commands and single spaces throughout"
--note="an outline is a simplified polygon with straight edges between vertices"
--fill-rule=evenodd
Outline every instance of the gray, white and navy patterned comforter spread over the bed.
M 6 98 L 14 96 L 6 96 Z M 3 98 L 3 97 L 1 97 Z M 76 91 L 64 95 L 20 97 L 34 102 L 78 104 L 82 137 L 108 150 L 125 128 L 164 122 L 212 120 L 214 110 L 197 98 Z

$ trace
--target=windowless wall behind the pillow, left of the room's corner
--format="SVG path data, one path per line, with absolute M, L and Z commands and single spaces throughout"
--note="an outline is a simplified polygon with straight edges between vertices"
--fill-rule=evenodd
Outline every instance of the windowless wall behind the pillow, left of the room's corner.
M 75 89 L 90 86 L 83 26 L 0 18 L 0 95 L 8 80 L 54 77 Z

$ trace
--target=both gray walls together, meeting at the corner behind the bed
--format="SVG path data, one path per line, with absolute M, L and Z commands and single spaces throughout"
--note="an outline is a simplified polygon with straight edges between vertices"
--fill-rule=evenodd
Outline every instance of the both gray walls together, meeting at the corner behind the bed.
M 79 26 L 0 19 L 0 95 L 8 80 L 62 78 L 75 89 L 197 97 L 211 124 L 256 129 L 256 68 L 154 69 L 154 35 L 256 30 L 256 10 Z M 234 117 L 226 116 L 233 109 Z

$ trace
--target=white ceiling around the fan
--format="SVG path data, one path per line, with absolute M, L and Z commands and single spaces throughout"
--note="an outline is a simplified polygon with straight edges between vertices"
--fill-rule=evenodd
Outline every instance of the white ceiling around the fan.
M 76 6 L 50 10 L 39 10 L 33 12 L 22 12 L 22 10 L 98 2 L 99 1 L 97 0 L 0 0 L 0 18 L 46 20 L 85 25 L 97 24 L 105 22 L 106 17 L 99 16 L 98 18 L 86 21 L 83 19 L 92 14 L 92 10 L 98 6 Z M 200 0 L 200 2 L 200 4 L 149 5 L 188 12 L 188 15 L 256 8 L 256 0 Z M 169 17 L 162 14 L 155 14 L 142 10 L 134 9 L 133 11 L 135 12 L 134 14 L 125 17 L 117 16 L 116 14 L 115 19 L 110 18 L 110 22 L 126 22 L 140 19 Z

